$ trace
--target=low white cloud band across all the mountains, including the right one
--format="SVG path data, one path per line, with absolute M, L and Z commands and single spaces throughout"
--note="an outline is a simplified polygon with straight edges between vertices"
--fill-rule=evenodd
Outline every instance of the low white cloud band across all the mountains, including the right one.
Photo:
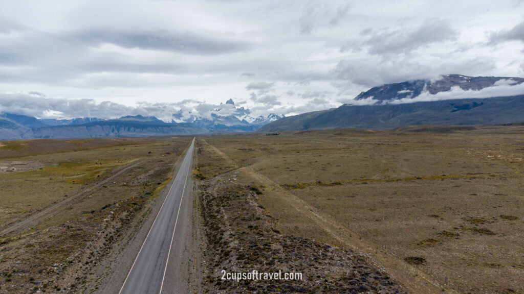
M 0 114 L 12 113 L 32 116 L 36 118 L 71 119 L 80 117 L 115 119 L 128 115 L 154 116 L 165 122 L 187 122 L 198 118 L 211 118 L 217 116 L 237 116 L 247 120 L 254 119 L 259 115 L 268 115 L 274 112 L 279 115 L 295 115 L 313 110 L 323 110 L 336 107 L 329 98 L 331 92 L 305 92 L 298 95 L 307 98 L 304 105 L 282 105 L 279 96 L 267 95 L 273 87 L 272 83 L 250 84 L 250 90 L 261 93 L 252 93 L 253 103 L 248 107 L 245 101 L 233 104 L 230 99 L 228 103 L 210 104 L 204 101 L 185 99 L 174 103 L 159 103 L 142 101 L 137 106 L 126 106 L 111 101 L 97 103 L 94 99 L 67 99 L 49 98 L 42 93 L 0 93 Z M 400 91 L 402 92 L 402 91 Z M 262 94 L 262 95 L 260 95 Z M 465 98 L 490 98 L 503 96 L 524 95 L 524 83 L 518 84 L 511 78 L 497 81 L 493 86 L 485 87 L 478 91 L 464 90 L 459 86 L 451 87 L 450 91 L 430 94 L 422 92 L 417 97 L 406 97 L 379 101 L 369 97 L 366 99 L 339 100 L 346 105 L 378 105 L 378 104 L 407 104 L 416 102 L 428 102 Z M 242 105 L 242 106 L 241 106 Z M 340 104 L 339 104 L 340 105 Z

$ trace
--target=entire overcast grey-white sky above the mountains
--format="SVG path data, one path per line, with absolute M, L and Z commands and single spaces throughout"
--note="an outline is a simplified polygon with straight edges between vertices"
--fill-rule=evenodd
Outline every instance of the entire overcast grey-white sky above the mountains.
M 384 83 L 524 76 L 524 1 L 7 1 L 0 111 L 340 106 Z M 161 112 L 162 115 L 159 115 Z

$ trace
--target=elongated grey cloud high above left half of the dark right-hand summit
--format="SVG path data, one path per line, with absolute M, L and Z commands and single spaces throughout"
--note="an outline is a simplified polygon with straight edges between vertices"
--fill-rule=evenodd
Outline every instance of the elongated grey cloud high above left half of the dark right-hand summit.
M 371 54 L 395 54 L 409 52 L 419 47 L 443 41 L 456 40 L 457 32 L 442 20 L 428 21 L 416 29 L 369 30 L 361 32 L 369 36 L 364 42 Z

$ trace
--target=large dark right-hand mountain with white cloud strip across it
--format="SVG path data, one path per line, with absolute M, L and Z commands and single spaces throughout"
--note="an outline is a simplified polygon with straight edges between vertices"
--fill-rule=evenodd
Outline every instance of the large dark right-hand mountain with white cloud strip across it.
M 524 121 L 524 79 L 446 75 L 373 87 L 354 104 L 268 123 L 259 131 L 408 125 L 478 125 Z

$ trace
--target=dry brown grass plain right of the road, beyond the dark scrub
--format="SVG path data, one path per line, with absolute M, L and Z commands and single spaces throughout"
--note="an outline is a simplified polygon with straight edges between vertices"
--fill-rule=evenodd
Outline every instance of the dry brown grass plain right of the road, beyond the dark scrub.
M 200 172 L 238 171 L 280 231 L 357 247 L 411 292 L 523 293 L 523 134 L 428 126 L 209 136 L 199 144 L 221 164 Z

